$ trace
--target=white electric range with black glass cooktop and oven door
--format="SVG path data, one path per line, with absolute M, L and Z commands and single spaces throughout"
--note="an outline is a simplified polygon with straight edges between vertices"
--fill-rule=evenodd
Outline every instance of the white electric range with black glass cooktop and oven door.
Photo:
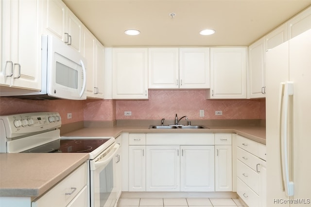
M 59 127 L 58 112 L 2 115 L 0 153 L 89 153 L 87 207 L 116 206 L 120 144 L 113 137 L 61 137 Z

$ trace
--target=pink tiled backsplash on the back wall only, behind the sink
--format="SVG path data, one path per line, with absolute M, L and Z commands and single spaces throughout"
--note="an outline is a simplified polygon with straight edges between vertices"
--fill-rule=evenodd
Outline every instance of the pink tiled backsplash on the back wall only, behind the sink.
M 119 100 L 116 119 L 174 119 L 187 115 L 191 119 L 265 119 L 264 99 L 206 100 L 205 90 L 149 90 L 148 100 Z M 199 111 L 205 111 L 205 117 Z M 124 116 L 132 111 L 132 116 Z M 223 111 L 223 115 L 215 115 Z

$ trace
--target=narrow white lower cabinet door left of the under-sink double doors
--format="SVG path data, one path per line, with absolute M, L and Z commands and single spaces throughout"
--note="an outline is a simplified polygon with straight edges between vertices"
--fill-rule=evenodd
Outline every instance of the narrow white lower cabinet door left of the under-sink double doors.
M 129 191 L 146 191 L 146 146 L 130 145 L 128 148 Z

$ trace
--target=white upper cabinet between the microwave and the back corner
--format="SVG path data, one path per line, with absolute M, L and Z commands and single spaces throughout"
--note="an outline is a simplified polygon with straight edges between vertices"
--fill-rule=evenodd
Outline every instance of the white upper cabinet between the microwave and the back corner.
M 86 28 L 83 30 L 83 51 L 87 60 L 86 96 L 104 98 L 104 46 Z

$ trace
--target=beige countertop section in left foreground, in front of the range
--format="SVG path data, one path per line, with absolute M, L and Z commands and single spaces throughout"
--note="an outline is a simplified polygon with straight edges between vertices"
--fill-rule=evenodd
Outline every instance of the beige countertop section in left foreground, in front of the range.
M 38 197 L 88 159 L 88 153 L 0 153 L 0 196 Z

